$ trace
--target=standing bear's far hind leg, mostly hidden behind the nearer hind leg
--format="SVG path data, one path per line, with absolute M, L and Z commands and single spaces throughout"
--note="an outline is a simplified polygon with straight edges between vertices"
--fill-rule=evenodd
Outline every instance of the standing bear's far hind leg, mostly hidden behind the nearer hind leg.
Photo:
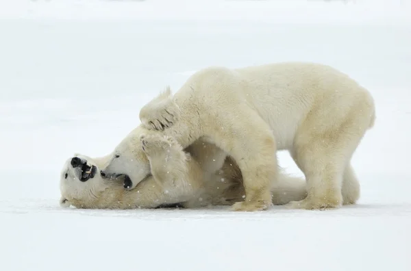
M 355 204 L 360 198 L 360 182 L 351 164 L 344 170 L 342 194 L 343 205 Z

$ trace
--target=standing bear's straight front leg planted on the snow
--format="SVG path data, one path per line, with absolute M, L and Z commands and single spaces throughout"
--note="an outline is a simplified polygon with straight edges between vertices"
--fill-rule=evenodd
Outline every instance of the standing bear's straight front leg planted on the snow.
M 245 188 L 245 201 L 234 211 L 260 211 L 273 205 L 271 187 L 277 180 L 276 142 L 269 125 L 246 106 L 223 108 L 210 121 L 205 135 L 238 164 Z

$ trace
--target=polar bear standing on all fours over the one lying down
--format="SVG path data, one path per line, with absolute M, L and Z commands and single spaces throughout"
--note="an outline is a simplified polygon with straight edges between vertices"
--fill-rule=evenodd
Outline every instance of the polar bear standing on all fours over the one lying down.
M 140 120 L 146 133 L 171 135 L 183 147 L 201 138 L 221 149 L 216 157 L 231 156 L 246 196 L 232 206 L 236 211 L 271 205 L 278 150 L 289 151 L 307 181 L 308 196 L 288 207 L 327 209 L 356 203 L 360 196 L 350 161 L 374 125 L 375 105 L 368 90 L 335 68 L 284 62 L 200 70 L 174 95 L 166 90 L 142 107 Z M 103 172 L 127 173 L 134 188 L 149 175 L 144 156 L 130 135 Z

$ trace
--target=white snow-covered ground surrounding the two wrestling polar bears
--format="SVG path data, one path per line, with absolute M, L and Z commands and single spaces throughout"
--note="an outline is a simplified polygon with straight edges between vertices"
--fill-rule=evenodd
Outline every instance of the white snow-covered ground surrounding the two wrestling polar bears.
M 406 0 L 0 1 L 0 270 L 411 270 L 409 14 Z M 285 60 L 330 64 L 373 93 L 358 205 L 58 205 L 64 159 L 111 151 L 166 84 Z

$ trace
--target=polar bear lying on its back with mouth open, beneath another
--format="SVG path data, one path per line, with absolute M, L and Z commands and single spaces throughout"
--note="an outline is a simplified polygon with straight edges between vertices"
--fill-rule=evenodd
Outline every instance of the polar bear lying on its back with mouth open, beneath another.
M 195 144 L 208 146 L 205 142 Z M 182 207 L 232 205 L 244 200 L 241 173 L 230 157 L 225 159 L 221 170 L 204 175 L 198 162 L 206 159 L 206 151 L 185 153 L 175 140 L 159 135 L 143 138 L 142 146 L 150 161 L 152 175 L 133 190 L 125 190 L 121 179 L 113 181 L 101 176 L 100 169 L 109 156 L 92 159 L 76 155 L 69 158 L 60 176 L 60 205 L 84 209 L 133 209 L 176 204 Z M 203 177 L 210 179 L 203 181 Z M 307 195 L 303 179 L 280 175 L 276 185 L 272 200 L 275 205 L 299 201 Z

